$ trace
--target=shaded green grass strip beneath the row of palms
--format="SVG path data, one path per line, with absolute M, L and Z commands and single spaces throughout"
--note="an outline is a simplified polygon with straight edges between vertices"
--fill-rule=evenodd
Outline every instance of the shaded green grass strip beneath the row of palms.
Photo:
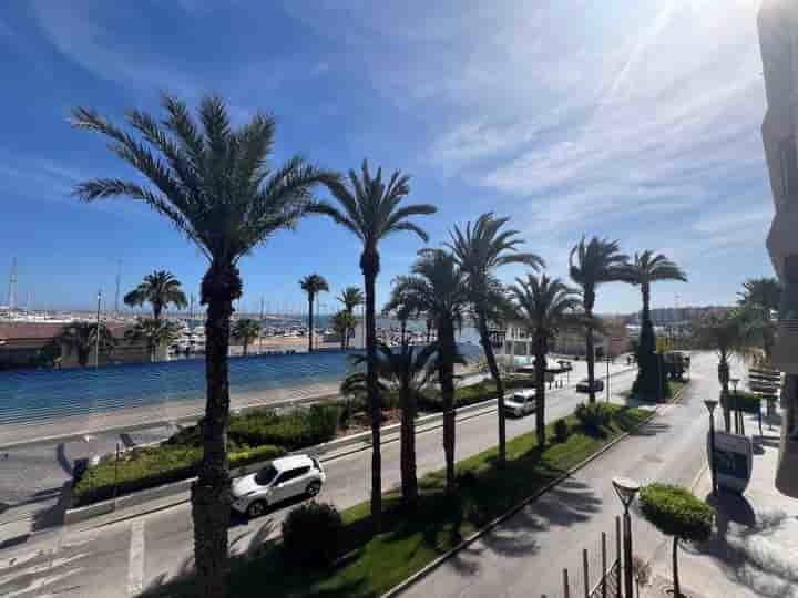
M 503 467 L 497 463 L 495 450 L 458 463 L 458 489 L 452 496 L 443 492 L 443 471 L 423 476 L 420 503 L 411 516 L 402 512 L 396 492 L 386 494 L 383 530 L 377 536 L 370 534 L 368 503 L 346 509 L 339 556 L 332 566 L 286 563 L 280 540 L 268 542 L 260 554 L 233 560 L 229 596 L 381 596 L 653 414 L 611 404 L 596 409 L 605 413 L 591 421 L 585 421 L 584 410 L 582 420 L 566 417 L 567 435 L 560 441 L 555 424 L 550 424 L 545 446 L 538 445 L 534 433 L 511 440 Z M 596 421 L 606 421 L 606 425 L 596 430 Z M 562 432 L 563 426 L 559 427 Z M 147 595 L 192 596 L 192 580 L 152 589 Z

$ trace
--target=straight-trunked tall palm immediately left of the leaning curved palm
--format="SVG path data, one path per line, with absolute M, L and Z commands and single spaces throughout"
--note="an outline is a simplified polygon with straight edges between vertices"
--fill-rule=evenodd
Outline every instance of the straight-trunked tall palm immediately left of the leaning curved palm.
M 454 340 L 469 295 L 466 277 L 454 257 L 442 249 L 422 250 L 410 276 L 396 280 L 393 295 L 401 307 L 423 313 L 438 330 L 438 380 L 443 402 L 443 453 L 447 465 L 447 492 L 454 489 L 454 364 L 461 361 Z

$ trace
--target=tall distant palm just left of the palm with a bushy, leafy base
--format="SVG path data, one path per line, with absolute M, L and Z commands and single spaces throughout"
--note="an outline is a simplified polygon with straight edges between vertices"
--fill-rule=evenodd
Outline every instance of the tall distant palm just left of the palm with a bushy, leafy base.
M 595 318 L 596 289 L 604 282 L 625 280 L 628 258 L 621 254 L 617 241 L 593 237 L 580 243 L 571 249 L 569 266 L 571 280 L 582 287 L 582 303 L 585 311 L 585 359 L 587 361 L 587 383 L 590 384 L 590 402 L 595 403 L 595 350 L 593 349 L 593 331 Z

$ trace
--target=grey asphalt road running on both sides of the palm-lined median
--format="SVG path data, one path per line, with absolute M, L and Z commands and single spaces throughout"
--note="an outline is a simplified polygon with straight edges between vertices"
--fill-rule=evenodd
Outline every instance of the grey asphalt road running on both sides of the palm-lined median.
M 695 383 L 683 405 L 668 408 L 645 431 L 620 443 L 539 501 L 532 507 L 536 511 L 522 512 L 411 592 L 419 596 L 552 592 L 557 576 L 562 575 L 559 564 L 579 563 L 579 550 L 585 543 L 601 529 L 610 530 L 618 506 L 610 488 L 612 475 L 689 483 L 698 472 L 705 458 L 702 443 L 707 425 L 700 398 L 706 391 L 715 392 L 714 367 L 709 355 L 694 359 Z M 633 377 L 633 372 L 613 377 L 613 390 L 628 389 Z M 572 389 L 555 391 L 548 401 L 548 417 L 565 415 L 583 400 L 584 395 Z M 616 394 L 613 400 L 623 401 Z M 515 436 L 533 429 L 534 417 L 528 416 L 510 420 L 508 433 Z M 459 423 L 458 458 L 495 443 L 494 414 Z M 419 473 L 443 466 L 440 429 L 421 434 L 417 448 Z M 383 484 L 389 488 L 399 483 L 399 445 L 387 444 L 382 451 Z M 327 463 L 328 483 L 320 498 L 339 507 L 367 499 L 369 464 L 368 451 Z M 286 509 L 282 509 L 254 522 L 235 522 L 229 533 L 232 551 L 258 546 L 279 529 L 285 514 Z M 653 550 L 658 536 L 644 529 L 636 529 L 636 536 L 638 533 L 641 545 L 651 545 Z M 130 519 L 106 526 L 84 522 L 55 528 L 19 545 L 3 546 L 2 542 L 0 537 L 0 596 L 9 598 L 133 596 L 192 567 L 188 505 L 142 516 L 132 514 Z M 552 566 L 554 561 L 556 567 Z

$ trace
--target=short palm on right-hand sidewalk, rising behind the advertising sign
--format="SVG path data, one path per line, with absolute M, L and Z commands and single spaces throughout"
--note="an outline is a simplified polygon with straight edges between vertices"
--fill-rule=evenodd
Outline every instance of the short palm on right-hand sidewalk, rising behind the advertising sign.
M 718 355 L 718 382 L 720 382 L 720 405 L 724 410 L 726 432 L 732 429 L 728 401 L 729 362 L 747 359 L 756 341 L 758 328 L 751 326 L 750 313 L 745 308 L 725 312 L 713 312 L 702 318 L 694 329 L 694 343 L 699 349 L 715 351 Z

